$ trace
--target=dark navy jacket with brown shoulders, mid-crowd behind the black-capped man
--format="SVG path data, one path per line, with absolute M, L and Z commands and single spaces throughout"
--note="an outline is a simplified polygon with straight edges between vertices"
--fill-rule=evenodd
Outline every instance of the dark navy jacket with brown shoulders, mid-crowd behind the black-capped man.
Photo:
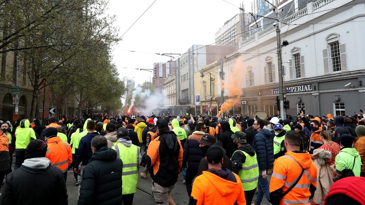
M 201 148 L 199 147 L 199 140 L 204 135 L 204 132 L 195 131 L 190 135 L 186 141 L 183 152 L 183 167 L 188 166 L 194 169 L 198 169 L 201 158 L 204 157 Z

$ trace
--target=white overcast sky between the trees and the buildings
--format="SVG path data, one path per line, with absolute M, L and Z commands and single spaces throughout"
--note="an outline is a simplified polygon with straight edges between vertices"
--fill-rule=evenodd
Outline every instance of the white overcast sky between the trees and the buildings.
M 110 0 L 109 14 L 118 16 L 115 26 L 120 27 L 120 36 L 153 1 Z M 227 1 L 237 7 L 242 3 L 238 0 Z M 250 5 L 250 2 L 244 1 L 245 5 Z M 142 84 L 150 80 L 150 72 L 135 68 L 152 69 L 153 63 L 170 60 L 170 57 L 155 53 L 183 54 L 194 44 L 214 43 L 215 32 L 239 13 L 237 7 L 223 0 L 157 0 L 123 36 L 123 41 L 113 47 L 119 77 L 134 77 L 136 85 Z

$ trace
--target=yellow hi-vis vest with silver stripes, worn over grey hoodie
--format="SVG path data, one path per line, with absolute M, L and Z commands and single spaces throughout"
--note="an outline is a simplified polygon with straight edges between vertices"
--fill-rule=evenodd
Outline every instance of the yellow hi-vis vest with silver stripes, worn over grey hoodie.
M 122 171 L 122 194 L 132 194 L 136 192 L 138 182 L 138 155 L 139 147 L 131 145 L 124 146 L 120 142 L 113 143 L 113 150 L 116 151 L 117 156 L 123 161 Z

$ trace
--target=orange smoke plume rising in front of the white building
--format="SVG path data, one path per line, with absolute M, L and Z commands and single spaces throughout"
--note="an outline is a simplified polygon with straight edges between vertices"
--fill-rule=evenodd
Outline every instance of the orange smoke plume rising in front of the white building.
M 243 81 L 243 69 L 240 69 L 241 63 L 238 62 L 238 65 L 235 66 L 229 74 L 229 79 L 227 81 L 221 80 L 221 86 L 223 88 L 226 88 L 228 90 L 228 98 L 221 106 L 220 111 L 216 115 L 216 117 L 219 118 L 219 116 L 226 112 L 227 110 L 230 110 L 234 107 L 240 100 L 241 100 L 241 94 L 242 94 L 242 81 Z

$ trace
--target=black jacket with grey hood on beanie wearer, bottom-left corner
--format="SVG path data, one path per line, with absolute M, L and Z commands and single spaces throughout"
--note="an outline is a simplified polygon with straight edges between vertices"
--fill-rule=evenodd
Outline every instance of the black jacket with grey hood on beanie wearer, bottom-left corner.
M 20 169 L 6 176 L 0 204 L 67 205 L 67 198 L 61 169 L 42 157 L 24 160 Z

